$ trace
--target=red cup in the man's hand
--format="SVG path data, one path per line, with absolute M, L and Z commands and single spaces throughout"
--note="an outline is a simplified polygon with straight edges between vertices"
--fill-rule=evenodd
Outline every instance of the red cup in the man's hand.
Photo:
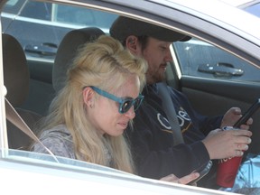
M 237 177 L 242 156 L 221 159 L 218 161 L 217 184 L 225 188 L 232 188 Z

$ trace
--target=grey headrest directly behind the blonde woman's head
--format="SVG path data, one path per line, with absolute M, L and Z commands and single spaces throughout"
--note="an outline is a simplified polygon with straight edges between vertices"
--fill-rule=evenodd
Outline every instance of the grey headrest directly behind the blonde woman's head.
M 105 32 L 95 27 L 89 27 L 73 30 L 64 36 L 60 42 L 52 70 L 52 83 L 56 92 L 64 87 L 67 70 L 75 58 L 79 46 L 97 39 L 102 34 Z

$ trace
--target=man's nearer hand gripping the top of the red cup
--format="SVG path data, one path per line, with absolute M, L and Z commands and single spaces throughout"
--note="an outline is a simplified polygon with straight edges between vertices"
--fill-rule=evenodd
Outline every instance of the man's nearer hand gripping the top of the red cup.
M 246 129 L 228 130 L 216 129 L 202 140 L 208 150 L 209 158 L 223 159 L 242 156 L 251 143 L 252 132 Z

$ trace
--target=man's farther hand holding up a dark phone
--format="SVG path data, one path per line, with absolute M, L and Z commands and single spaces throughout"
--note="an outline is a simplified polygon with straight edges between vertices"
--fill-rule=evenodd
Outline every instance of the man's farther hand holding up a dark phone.
M 233 126 L 237 122 L 237 120 L 242 116 L 241 109 L 239 107 L 231 107 L 228 112 L 223 116 L 221 122 L 221 128 L 224 126 Z M 246 121 L 246 124 L 240 125 L 241 129 L 249 129 L 249 125 L 253 124 L 253 118 L 249 118 Z

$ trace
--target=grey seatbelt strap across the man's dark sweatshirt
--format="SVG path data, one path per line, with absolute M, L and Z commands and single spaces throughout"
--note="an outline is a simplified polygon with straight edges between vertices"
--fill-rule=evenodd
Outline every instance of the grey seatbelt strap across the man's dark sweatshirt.
M 160 82 L 157 84 L 157 86 L 158 94 L 160 95 L 160 98 L 162 98 L 163 100 L 163 110 L 167 115 L 170 125 L 172 126 L 173 144 L 176 145 L 184 143 L 181 134 L 181 127 L 175 112 L 174 105 L 172 103 L 172 98 L 170 97 L 169 89 L 165 82 Z

